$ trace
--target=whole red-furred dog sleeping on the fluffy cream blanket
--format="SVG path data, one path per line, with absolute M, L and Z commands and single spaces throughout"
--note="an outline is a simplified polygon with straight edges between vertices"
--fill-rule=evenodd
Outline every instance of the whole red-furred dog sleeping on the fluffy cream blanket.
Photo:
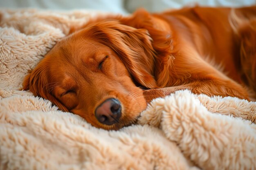
M 74 26 L 23 87 L 93 126 L 119 129 L 156 97 L 189 89 L 250 99 L 255 80 L 256 7 L 189 7 Z

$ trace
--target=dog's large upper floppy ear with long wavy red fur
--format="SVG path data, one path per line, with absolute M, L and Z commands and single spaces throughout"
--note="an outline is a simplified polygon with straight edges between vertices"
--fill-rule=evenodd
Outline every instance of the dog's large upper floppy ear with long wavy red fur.
M 115 51 L 137 83 L 146 88 L 157 88 L 155 51 L 146 29 L 135 29 L 117 20 L 105 20 L 89 25 L 84 36 Z

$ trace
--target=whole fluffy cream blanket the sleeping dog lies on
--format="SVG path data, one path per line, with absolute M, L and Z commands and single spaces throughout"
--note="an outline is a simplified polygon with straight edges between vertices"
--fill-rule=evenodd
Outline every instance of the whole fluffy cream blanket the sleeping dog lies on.
M 1 10 L 0 170 L 256 169 L 256 102 L 177 91 L 138 125 L 106 131 L 21 91 L 70 26 L 97 14 Z

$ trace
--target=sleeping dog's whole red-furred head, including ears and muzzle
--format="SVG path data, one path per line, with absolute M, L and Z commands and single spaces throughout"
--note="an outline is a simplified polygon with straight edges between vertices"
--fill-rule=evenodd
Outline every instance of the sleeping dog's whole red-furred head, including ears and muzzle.
M 119 129 L 146 108 L 144 88 L 156 88 L 155 51 L 146 29 L 103 20 L 63 38 L 23 87 L 93 126 Z

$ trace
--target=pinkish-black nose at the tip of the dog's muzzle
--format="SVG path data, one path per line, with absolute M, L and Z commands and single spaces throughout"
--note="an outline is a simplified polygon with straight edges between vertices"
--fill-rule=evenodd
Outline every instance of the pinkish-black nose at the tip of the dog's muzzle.
M 121 103 L 118 99 L 106 99 L 95 110 L 95 117 L 101 124 L 112 125 L 118 123 L 121 117 Z

